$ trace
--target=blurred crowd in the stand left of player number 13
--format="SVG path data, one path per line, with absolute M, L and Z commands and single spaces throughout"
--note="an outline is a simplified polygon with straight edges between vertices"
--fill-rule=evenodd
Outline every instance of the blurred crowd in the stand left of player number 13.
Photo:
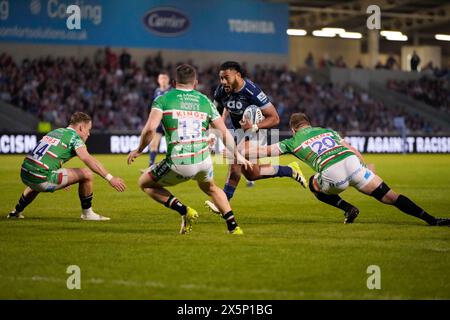
M 62 126 L 76 110 L 93 116 L 94 129 L 139 129 L 147 114 L 154 79 L 109 49 L 93 59 L 24 60 L 0 56 L 2 100 Z

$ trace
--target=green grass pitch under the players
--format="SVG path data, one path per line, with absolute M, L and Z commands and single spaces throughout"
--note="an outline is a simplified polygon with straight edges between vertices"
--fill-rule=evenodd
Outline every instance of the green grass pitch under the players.
M 391 188 L 450 217 L 449 155 L 366 158 Z M 0 159 L 4 217 L 24 187 L 22 156 Z M 450 228 L 428 227 L 353 189 L 342 196 L 361 214 L 344 225 L 340 210 L 291 179 L 241 182 L 232 206 L 245 234 L 231 236 L 188 182 L 170 190 L 200 219 L 179 235 L 179 215 L 137 186 L 147 156 L 132 166 L 125 155 L 98 159 L 128 186 L 119 194 L 95 179 L 94 210 L 111 221 L 81 221 L 76 186 L 40 195 L 24 220 L 0 218 L 1 299 L 450 299 Z M 225 175 L 216 165 L 219 186 Z M 66 287 L 69 265 L 81 269 L 81 290 Z M 380 290 L 367 288 L 370 265 L 380 267 Z

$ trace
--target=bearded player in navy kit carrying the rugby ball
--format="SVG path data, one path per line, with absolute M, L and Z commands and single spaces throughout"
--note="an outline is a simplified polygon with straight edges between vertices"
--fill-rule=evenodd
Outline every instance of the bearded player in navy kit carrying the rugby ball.
M 244 77 L 242 67 L 235 61 L 227 61 L 220 66 L 220 85 L 214 92 L 214 104 L 222 114 L 224 121 L 228 115 L 234 129 L 242 129 L 246 133 L 256 133 L 259 129 L 275 128 L 280 123 L 278 112 L 270 102 L 266 94 L 250 79 Z M 264 120 L 258 124 L 252 124 L 243 119 L 243 114 L 248 106 L 259 107 L 264 115 Z M 249 181 L 267 179 L 273 177 L 289 177 L 298 181 L 303 187 L 306 180 L 296 162 L 288 166 L 272 166 L 270 164 L 254 164 L 252 169 L 244 169 L 239 164 L 231 164 L 224 191 L 228 199 L 233 197 L 241 174 Z M 213 211 L 214 206 L 206 203 Z

